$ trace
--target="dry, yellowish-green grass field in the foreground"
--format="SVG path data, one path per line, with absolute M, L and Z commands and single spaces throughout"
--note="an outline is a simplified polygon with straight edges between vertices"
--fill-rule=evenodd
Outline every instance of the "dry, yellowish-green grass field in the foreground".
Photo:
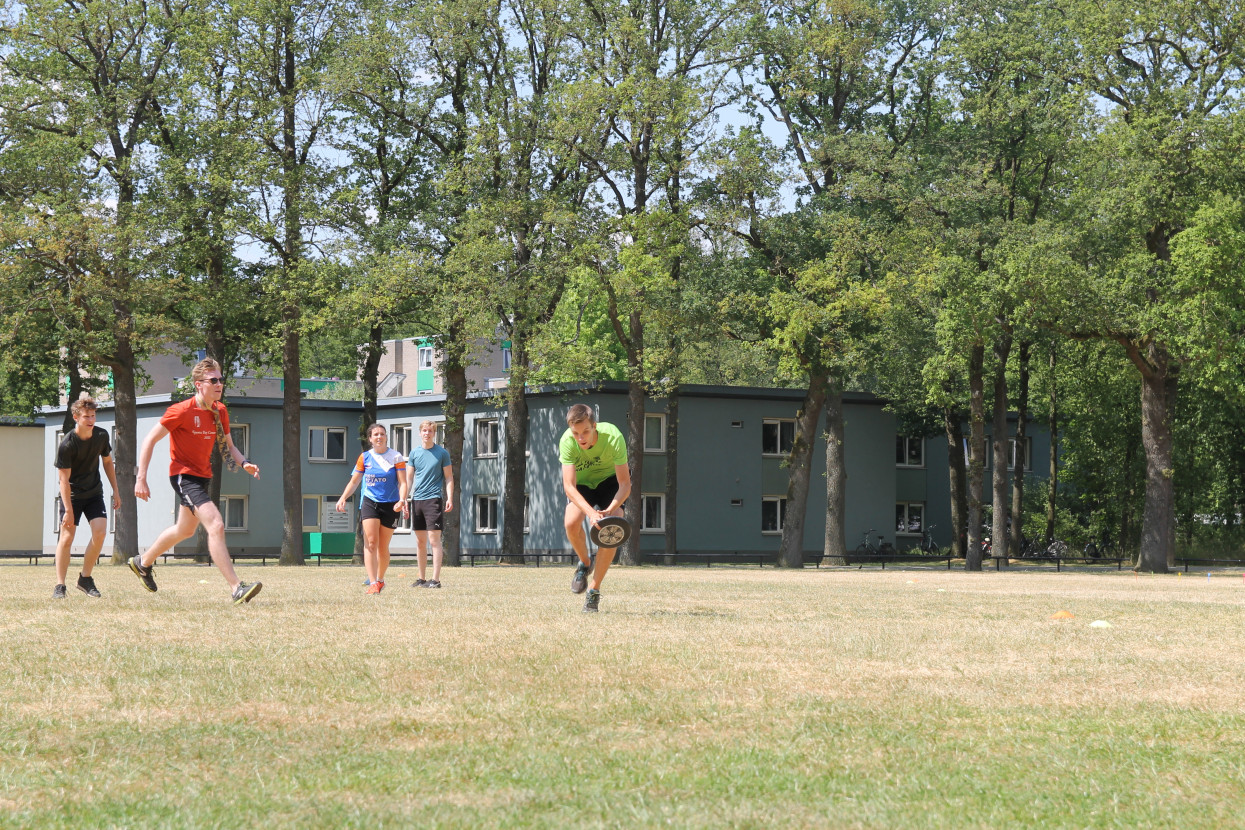
M 0 826 L 1245 826 L 1239 571 L 76 569 L 0 566 Z

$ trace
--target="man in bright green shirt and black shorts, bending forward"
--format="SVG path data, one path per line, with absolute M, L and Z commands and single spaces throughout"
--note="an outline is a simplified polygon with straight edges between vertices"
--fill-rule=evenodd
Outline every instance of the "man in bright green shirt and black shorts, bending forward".
M 584 518 L 598 524 L 605 516 L 621 516 L 631 493 L 631 470 L 626 465 L 626 441 L 611 423 L 596 423 L 593 409 L 576 403 L 566 413 L 566 432 L 558 442 L 561 487 L 566 492 L 566 539 L 579 556 L 570 590 L 588 590 L 584 611 L 595 612 L 601 602 L 601 580 L 614 562 L 616 548 L 596 551 L 595 565 L 588 556 Z M 591 571 L 591 579 L 589 579 Z

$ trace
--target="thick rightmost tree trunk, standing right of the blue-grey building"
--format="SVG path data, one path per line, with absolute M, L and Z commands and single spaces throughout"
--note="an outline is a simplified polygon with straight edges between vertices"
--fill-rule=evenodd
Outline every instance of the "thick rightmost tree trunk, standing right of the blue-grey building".
M 1145 511 L 1137 570 L 1167 574 L 1175 562 L 1175 488 L 1172 467 L 1172 407 L 1178 367 L 1157 345 L 1129 346 L 1129 357 L 1142 371 L 1142 447 L 1145 449 Z

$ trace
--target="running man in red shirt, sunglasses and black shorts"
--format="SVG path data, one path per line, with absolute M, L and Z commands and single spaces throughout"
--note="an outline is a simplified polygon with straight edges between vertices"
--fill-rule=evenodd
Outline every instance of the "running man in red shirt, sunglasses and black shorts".
M 177 543 L 193 536 L 195 528 L 202 523 L 208 534 L 208 553 L 212 554 L 212 561 L 229 582 L 234 605 L 242 605 L 250 602 L 264 584 L 239 580 L 233 560 L 229 559 L 229 549 L 225 546 L 225 523 L 220 510 L 208 495 L 212 479 L 212 448 L 219 445 L 220 457 L 230 469 L 240 467 L 259 478 L 259 467 L 247 460 L 234 447 L 233 437 L 229 434 L 229 412 L 220 403 L 224 392 L 220 365 L 210 357 L 202 360 L 190 370 L 190 380 L 194 382 L 194 397 L 171 406 L 156 428 L 147 434 L 138 453 L 138 478 L 134 480 L 134 497 L 146 501 L 151 498 L 147 465 L 151 464 L 156 444 L 168 436 L 169 483 L 177 493 L 181 508 L 184 509 L 178 509 L 177 524 L 157 536 L 146 554 L 129 560 L 129 570 L 142 580 L 143 587 L 154 592 L 156 560 Z

